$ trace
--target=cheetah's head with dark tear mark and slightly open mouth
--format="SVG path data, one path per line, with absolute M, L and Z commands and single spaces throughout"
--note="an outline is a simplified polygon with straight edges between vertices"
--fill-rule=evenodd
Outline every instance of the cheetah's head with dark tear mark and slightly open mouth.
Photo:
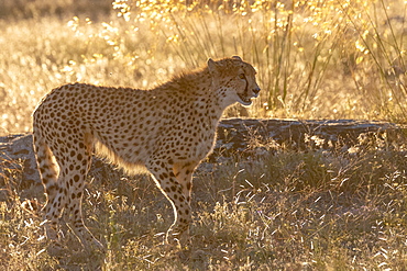
M 239 56 L 218 61 L 209 58 L 208 69 L 212 77 L 212 86 L 221 92 L 227 104 L 240 102 L 249 106 L 252 104 L 251 99 L 258 97 L 256 71 Z

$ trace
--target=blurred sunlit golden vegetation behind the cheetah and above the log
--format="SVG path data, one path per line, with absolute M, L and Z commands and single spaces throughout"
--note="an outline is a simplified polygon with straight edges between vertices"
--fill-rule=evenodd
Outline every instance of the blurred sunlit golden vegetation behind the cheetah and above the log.
M 0 1 L 0 134 L 31 131 L 59 84 L 152 88 L 240 55 L 262 95 L 226 116 L 406 116 L 402 0 Z

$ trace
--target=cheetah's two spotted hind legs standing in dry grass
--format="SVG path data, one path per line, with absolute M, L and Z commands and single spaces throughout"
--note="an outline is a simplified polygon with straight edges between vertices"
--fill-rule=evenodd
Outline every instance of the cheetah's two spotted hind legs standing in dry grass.
M 63 213 L 68 218 L 68 226 L 80 240 L 85 249 L 96 247 L 103 251 L 101 242 L 94 237 L 84 224 L 81 202 L 85 189 L 85 179 L 88 173 L 91 151 L 87 146 L 86 136 L 73 128 L 74 133 L 65 138 L 64 146 L 55 142 L 48 143 L 50 150 L 55 157 L 59 168 L 59 177 L 56 182 L 47 180 L 47 173 L 43 174 L 43 182 L 48 201 L 45 206 L 45 229 L 47 237 L 53 240 L 57 236 L 59 218 Z M 69 146 L 66 151 L 66 146 Z M 41 160 L 41 159 L 38 159 Z M 45 171 L 48 167 L 44 167 Z M 41 170 L 41 165 L 40 165 Z

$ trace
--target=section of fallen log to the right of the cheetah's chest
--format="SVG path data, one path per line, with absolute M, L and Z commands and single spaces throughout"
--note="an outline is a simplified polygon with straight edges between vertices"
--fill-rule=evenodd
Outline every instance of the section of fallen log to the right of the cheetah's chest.
M 255 147 L 256 144 L 276 144 L 277 147 L 294 150 L 332 150 L 338 147 L 349 148 L 366 144 L 370 139 L 386 137 L 386 140 L 396 140 L 406 128 L 404 125 L 375 121 L 229 118 L 223 120 L 218 127 L 217 148 L 244 151 L 248 147 Z

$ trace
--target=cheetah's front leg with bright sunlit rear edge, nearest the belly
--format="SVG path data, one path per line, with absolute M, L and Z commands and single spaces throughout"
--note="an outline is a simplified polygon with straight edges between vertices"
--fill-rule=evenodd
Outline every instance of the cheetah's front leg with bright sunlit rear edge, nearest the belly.
M 191 212 L 187 196 L 183 192 L 184 188 L 174 174 L 173 165 L 161 160 L 152 160 L 146 167 L 174 208 L 174 223 L 167 232 L 166 242 L 186 245 L 186 241 L 189 239 Z

